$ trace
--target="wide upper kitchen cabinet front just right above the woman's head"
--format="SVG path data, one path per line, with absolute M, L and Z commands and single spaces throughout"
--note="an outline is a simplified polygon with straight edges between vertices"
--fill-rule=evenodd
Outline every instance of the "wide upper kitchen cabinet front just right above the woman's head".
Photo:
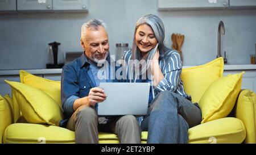
M 158 10 L 225 9 L 228 0 L 158 0 Z

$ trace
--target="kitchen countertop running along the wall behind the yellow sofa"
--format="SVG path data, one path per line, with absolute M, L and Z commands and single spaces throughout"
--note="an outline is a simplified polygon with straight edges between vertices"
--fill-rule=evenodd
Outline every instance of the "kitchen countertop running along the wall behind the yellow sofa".
M 190 68 L 192 66 L 183 66 Z M 62 69 L 24 69 L 31 74 L 61 74 Z M 256 65 L 224 65 L 224 70 L 256 70 Z M 0 76 L 19 75 L 19 69 L 0 70 Z

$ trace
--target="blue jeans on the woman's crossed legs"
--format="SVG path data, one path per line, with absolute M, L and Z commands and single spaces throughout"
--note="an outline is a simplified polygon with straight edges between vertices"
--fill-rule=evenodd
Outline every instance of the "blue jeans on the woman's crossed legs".
M 148 131 L 147 143 L 188 143 L 188 129 L 201 122 L 197 103 L 172 91 L 156 95 L 141 128 Z

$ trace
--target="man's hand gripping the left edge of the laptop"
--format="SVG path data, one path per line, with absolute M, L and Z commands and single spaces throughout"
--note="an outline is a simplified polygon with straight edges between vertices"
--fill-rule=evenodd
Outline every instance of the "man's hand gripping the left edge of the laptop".
M 103 102 L 106 99 L 107 95 L 104 93 L 104 90 L 100 87 L 93 87 L 90 89 L 88 95 L 88 104 L 89 106 L 94 106 L 98 102 Z

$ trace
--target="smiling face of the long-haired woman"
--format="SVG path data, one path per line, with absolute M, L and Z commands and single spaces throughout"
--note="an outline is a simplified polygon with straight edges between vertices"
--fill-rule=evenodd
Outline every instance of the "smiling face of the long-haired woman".
M 135 42 L 141 50 L 142 56 L 158 44 L 154 31 L 147 24 L 142 24 L 138 27 L 135 34 Z

